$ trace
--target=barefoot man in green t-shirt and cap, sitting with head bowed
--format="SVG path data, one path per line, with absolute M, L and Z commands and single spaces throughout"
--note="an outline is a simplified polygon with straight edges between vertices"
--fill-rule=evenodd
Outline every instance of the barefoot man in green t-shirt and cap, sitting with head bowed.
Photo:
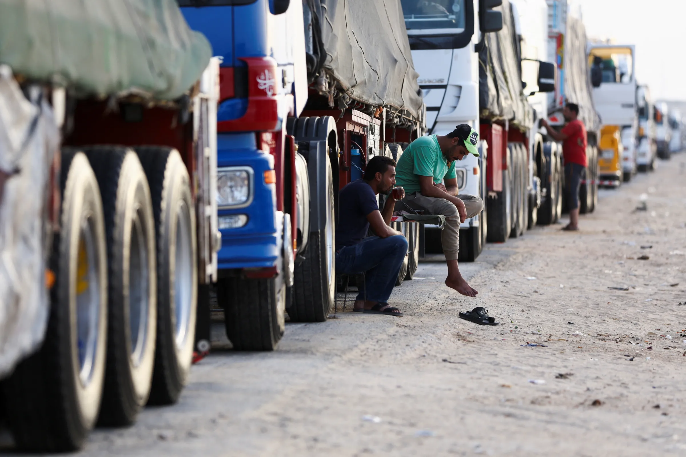
M 479 156 L 478 142 L 479 134 L 467 124 L 445 136 L 422 136 L 405 149 L 395 169 L 396 184 L 405 189 L 405 198 L 396 203 L 395 210 L 410 207 L 445 216 L 440 237 L 448 264 L 445 285 L 468 297 L 476 297 L 478 292 L 458 268 L 460 223 L 482 212 L 484 201 L 474 195 L 458 195 L 455 161 L 469 153 Z

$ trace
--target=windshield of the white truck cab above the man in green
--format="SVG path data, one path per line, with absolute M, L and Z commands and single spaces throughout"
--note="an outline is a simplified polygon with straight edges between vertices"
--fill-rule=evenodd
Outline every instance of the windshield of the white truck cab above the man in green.
M 464 0 L 402 0 L 407 30 L 448 29 L 464 30 Z M 438 31 L 436 31 L 438 32 Z

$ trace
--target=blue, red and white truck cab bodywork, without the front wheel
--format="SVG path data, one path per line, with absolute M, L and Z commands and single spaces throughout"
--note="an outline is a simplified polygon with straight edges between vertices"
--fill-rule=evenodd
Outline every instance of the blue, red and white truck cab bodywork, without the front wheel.
M 294 55 L 298 34 L 289 31 L 299 22 L 303 34 L 302 10 L 299 2 L 283 0 L 179 3 L 189 26 L 202 32 L 222 58 L 217 110 L 220 276 L 248 269 L 248 275 L 265 277 L 279 269 L 283 241 L 283 126 L 307 101 L 303 73 L 297 84 L 302 89 L 299 107 L 295 103 L 296 66 L 305 55 L 304 50 L 302 59 Z

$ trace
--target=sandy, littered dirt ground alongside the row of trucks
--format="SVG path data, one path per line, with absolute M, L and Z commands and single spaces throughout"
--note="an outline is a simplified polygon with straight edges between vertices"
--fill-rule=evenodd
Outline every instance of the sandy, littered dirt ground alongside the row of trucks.
M 82 455 L 683 454 L 686 154 L 561 226 L 462 264 L 476 299 L 439 256 L 395 289 L 405 317 L 348 306 L 268 354 L 217 341 L 178 405 L 96 430 Z M 474 306 L 501 325 L 458 319 Z

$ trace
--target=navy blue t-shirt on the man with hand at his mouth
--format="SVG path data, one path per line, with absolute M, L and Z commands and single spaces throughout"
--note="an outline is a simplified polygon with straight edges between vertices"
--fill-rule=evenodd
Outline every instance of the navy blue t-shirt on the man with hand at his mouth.
M 353 181 L 342 188 L 338 195 L 336 250 L 362 241 L 369 230 L 367 215 L 377 210 L 377 196 L 365 180 Z

